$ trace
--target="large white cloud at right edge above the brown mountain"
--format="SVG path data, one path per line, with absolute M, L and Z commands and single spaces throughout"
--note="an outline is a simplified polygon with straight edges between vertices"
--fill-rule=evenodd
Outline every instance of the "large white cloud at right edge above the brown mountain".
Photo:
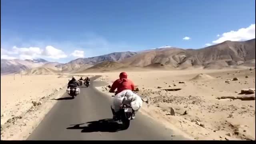
M 225 32 L 222 34 L 220 38 L 217 40 L 214 40 L 214 44 L 219 44 L 222 43 L 226 40 L 231 40 L 231 41 L 245 41 L 245 40 L 250 40 L 255 38 L 255 24 L 251 24 L 247 28 L 240 28 L 237 31 L 230 31 L 230 32 Z

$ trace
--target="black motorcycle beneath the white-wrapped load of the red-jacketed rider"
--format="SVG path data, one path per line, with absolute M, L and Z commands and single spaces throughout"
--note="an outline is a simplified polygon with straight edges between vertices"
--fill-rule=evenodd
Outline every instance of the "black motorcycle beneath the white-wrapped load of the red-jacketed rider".
M 114 97 L 114 96 L 112 96 Z M 114 110 L 112 109 L 112 113 L 114 114 Z M 120 105 L 120 111 L 117 112 L 117 118 L 115 120 L 122 122 L 122 129 L 126 130 L 130 126 L 130 120 L 132 119 L 132 114 L 134 113 L 134 110 L 132 109 L 132 106 L 130 104 L 121 104 Z

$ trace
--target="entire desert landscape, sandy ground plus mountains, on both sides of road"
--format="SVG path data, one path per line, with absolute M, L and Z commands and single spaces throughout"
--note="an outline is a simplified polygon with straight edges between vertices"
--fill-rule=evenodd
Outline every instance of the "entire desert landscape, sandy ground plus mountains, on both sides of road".
M 179 134 L 255 140 L 255 38 L 196 50 L 114 52 L 66 64 L 1 59 L 1 140 L 26 140 L 72 76 L 100 75 L 96 81 L 111 86 L 123 71 L 144 101 L 142 114 Z M 97 89 L 111 95 L 107 85 Z

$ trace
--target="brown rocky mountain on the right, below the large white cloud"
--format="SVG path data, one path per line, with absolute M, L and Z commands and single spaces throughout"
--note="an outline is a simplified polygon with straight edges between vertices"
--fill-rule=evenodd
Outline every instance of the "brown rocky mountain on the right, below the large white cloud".
M 255 60 L 255 39 L 244 42 L 226 41 L 201 49 L 168 48 L 161 51 L 142 52 L 121 62 L 126 65 L 145 67 L 154 63 L 175 68 L 203 66 L 204 68 L 222 68 L 241 65 Z M 251 62 L 250 66 L 255 66 Z

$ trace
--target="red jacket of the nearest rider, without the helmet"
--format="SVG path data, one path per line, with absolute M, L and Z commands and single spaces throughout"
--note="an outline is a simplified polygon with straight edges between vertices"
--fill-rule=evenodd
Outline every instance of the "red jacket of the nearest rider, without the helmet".
M 116 94 L 119 92 L 122 92 L 123 90 L 134 90 L 134 83 L 131 80 L 125 79 L 125 80 L 116 80 L 111 86 L 110 92 L 114 92 L 116 90 Z

